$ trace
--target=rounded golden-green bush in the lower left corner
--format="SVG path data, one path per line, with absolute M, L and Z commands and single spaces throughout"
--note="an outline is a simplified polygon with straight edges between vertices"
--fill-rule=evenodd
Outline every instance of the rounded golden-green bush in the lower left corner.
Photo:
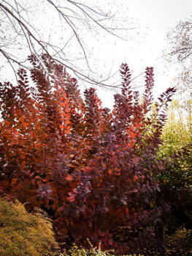
M 28 213 L 20 202 L 0 199 L 1 256 L 39 256 L 54 249 L 58 244 L 45 213 Z

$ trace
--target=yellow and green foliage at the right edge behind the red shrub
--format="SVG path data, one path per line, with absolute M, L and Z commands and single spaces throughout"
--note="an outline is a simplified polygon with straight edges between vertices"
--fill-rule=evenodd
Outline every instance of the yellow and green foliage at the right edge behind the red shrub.
M 179 100 L 171 103 L 161 138 L 163 145 L 159 155 L 171 161 L 161 175 L 161 182 L 169 184 L 175 191 L 188 188 L 192 181 L 192 100 L 183 104 Z

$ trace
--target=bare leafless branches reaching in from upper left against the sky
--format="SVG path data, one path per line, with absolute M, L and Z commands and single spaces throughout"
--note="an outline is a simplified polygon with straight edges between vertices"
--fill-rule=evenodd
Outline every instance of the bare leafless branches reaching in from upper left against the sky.
M 78 1 L 64 0 L 64 4 L 63 2 L 62 4 L 58 4 L 58 0 L 42 0 L 42 2 L 44 4 L 47 3 L 47 6 L 50 5 L 50 7 L 54 8 L 54 10 L 58 13 L 58 18 L 60 19 L 61 25 L 64 21 L 66 29 L 68 29 L 68 31 L 71 29 L 72 33 L 69 35 L 68 40 L 66 40 L 62 47 L 55 45 L 54 43 L 47 42 L 47 40 L 42 38 L 44 37 L 44 34 L 39 33 L 31 22 L 29 14 L 32 12 L 28 6 L 23 5 L 21 0 L 12 0 L 12 3 L 15 5 L 12 4 L 11 1 L 9 2 L 2 0 L 0 2 L 0 11 L 4 12 L 4 15 L 7 17 L 7 21 L 12 24 L 12 28 L 14 29 L 16 37 L 18 37 L 18 41 L 20 38 L 23 38 L 28 50 L 31 52 L 31 54 L 35 54 L 35 56 L 37 56 L 42 65 L 43 62 L 41 60 L 41 54 L 47 54 L 50 56 L 50 58 L 52 58 L 53 62 L 64 65 L 64 67 L 71 70 L 74 75 L 77 76 L 77 78 L 80 78 L 82 81 L 93 85 L 99 85 L 101 87 L 118 88 L 119 85 L 107 84 L 107 81 L 114 77 L 115 74 L 112 76 L 108 74 L 108 76 L 101 81 L 98 78 L 93 78 L 94 72 L 88 60 L 85 43 L 83 42 L 80 32 L 78 31 L 79 29 L 77 28 L 79 27 L 80 23 L 87 26 L 89 29 L 95 29 L 95 26 L 104 32 L 122 39 L 123 37 L 116 34 L 115 31 L 123 30 L 123 26 L 110 27 L 107 26 L 107 24 L 104 24 L 105 21 L 115 21 L 115 15 L 111 15 L 110 11 L 105 13 L 99 9 L 96 9 L 95 7 L 91 7 L 89 4 L 80 3 Z M 1 22 L 3 23 L 3 21 Z M 63 33 L 63 25 L 61 27 L 61 33 Z M 71 44 L 74 42 L 74 40 L 76 40 L 77 45 L 80 46 L 78 51 L 82 52 L 82 56 L 77 56 L 75 59 L 74 57 L 69 58 L 69 56 L 66 56 L 66 51 L 64 51 L 66 47 L 69 48 L 69 43 Z M 125 38 L 123 38 L 123 40 L 125 40 Z M 9 42 L 10 40 L 8 43 Z M 7 50 L 7 46 L 8 45 L 5 42 L 4 45 L 1 45 L 0 47 L 1 54 L 7 58 L 8 62 L 14 62 L 17 65 L 20 65 L 22 62 L 26 62 L 26 59 L 23 61 L 18 57 L 12 57 L 11 52 Z M 85 59 L 86 67 L 88 67 L 89 72 L 84 72 L 81 70 L 81 68 L 77 67 L 77 61 L 82 59 Z M 76 62 L 76 65 L 74 65 L 74 61 Z

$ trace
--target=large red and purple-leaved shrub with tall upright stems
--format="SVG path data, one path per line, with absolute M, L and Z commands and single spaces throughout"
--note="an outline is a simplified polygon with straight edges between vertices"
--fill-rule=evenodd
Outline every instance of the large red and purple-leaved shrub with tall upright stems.
M 31 77 L 20 69 L 18 85 L 0 84 L 1 194 L 47 211 L 66 245 L 89 238 L 121 254 L 159 249 L 155 225 L 164 205 L 155 204 L 155 177 L 165 166 L 157 150 L 174 89 L 152 108 L 153 68 L 140 100 L 123 64 L 110 111 L 95 89 L 83 100 L 64 67 L 42 58 L 29 57 Z

